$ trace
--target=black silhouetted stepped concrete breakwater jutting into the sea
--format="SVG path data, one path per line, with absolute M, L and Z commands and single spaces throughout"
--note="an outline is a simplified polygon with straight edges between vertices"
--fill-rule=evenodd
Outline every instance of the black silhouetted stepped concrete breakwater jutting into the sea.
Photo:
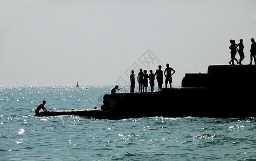
M 210 65 L 207 74 L 185 74 L 182 87 L 161 92 L 106 94 L 100 109 L 41 112 L 119 120 L 163 116 L 255 117 L 256 65 Z

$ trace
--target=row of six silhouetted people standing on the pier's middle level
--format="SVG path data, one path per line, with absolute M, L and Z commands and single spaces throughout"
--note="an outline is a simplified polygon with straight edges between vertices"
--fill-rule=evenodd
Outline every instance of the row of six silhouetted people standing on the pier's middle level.
M 155 76 L 158 84 L 158 91 L 162 91 L 162 85 L 163 85 L 163 74 L 165 76 L 165 87 L 167 88 L 168 82 L 171 87 L 172 83 L 172 75 L 175 74 L 175 70 L 170 67 L 170 65 L 167 63 L 166 68 L 164 72 L 161 70 L 162 66 L 159 65 L 158 69 L 155 73 L 153 73 L 153 70 L 149 70 L 150 74 L 147 74 L 147 70 L 140 69 L 140 72 L 137 76 L 137 82 L 139 83 L 139 92 L 147 92 L 148 84 L 150 84 L 150 90 L 151 92 L 154 92 L 154 85 L 155 85 Z M 132 74 L 130 75 L 130 92 L 134 93 L 135 89 L 135 75 L 134 70 L 131 71 Z

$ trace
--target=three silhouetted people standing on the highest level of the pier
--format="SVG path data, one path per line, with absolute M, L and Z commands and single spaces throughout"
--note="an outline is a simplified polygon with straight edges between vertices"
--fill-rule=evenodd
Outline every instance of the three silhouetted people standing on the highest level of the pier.
M 256 42 L 254 38 L 251 39 L 252 44 L 251 44 L 251 49 L 250 49 L 250 65 L 252 64 L 252 60 L 254 60 L 254 64 L 256 64 Z M 243 44 L 243 39 L 240 39 L 240 42 L 236 44 L 235 40 L 230 40 L 230 50 L 231 50 L 231 61 L 229 62 L 230 65 L 234 65 L 234 60 L 237 62 L 237 64 L 242 65 L 242 61 L 245 58 L 244 54 L 244 44 Z M 239 54 L 240 58 L 239 61 L 236 58 L 236 54 Z

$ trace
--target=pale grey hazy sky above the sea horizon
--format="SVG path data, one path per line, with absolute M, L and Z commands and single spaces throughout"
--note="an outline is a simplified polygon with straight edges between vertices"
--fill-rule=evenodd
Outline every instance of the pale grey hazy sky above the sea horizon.
M 185 73 L 227 64 L 230 39 L 250 63 L 255 0 L 0 0 L 0 85 L 126 85 L 130 70 Z M 239 55 L 236 56 L 239 58 Z M 155 84 L 156 80 L 155 80 Z M 137 85 L 137 84 L 136 84 Z

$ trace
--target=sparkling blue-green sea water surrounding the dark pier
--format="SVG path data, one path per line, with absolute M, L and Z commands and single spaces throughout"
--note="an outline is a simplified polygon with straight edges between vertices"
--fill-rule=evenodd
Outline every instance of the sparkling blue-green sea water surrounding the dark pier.
M 254 118 L 33 115 L 43 100 L 48 110 L 100 107 L 111 89 L 0 86 L 0 160 L 256 160 Z

